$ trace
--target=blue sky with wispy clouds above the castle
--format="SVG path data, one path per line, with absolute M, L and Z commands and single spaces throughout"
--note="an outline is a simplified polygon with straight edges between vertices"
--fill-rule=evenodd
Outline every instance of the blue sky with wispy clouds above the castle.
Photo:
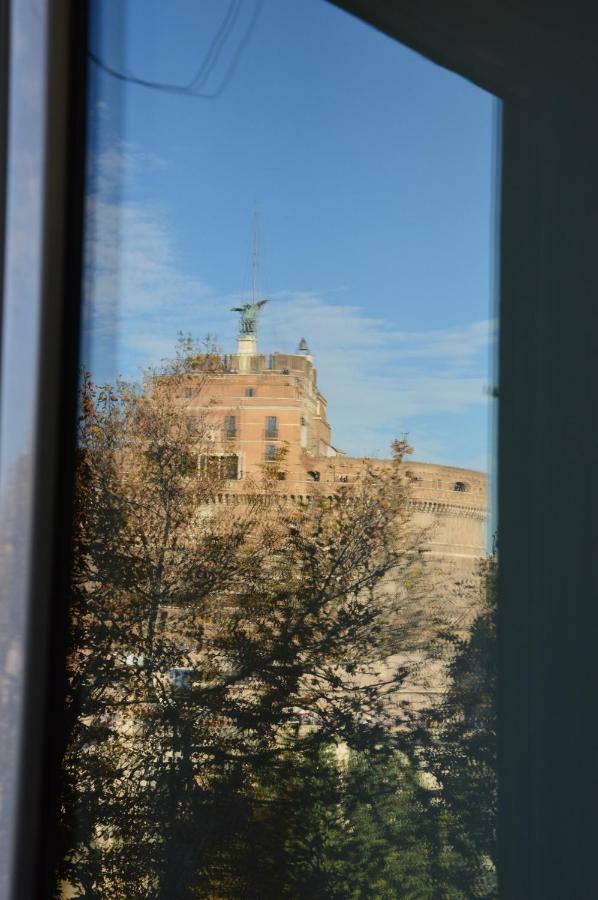
M 257 216 L 260 350 L 306 338 L 335 446 L 407 433 L 488 471 L 495 98 L 324 0 L 98 0 L 91 44 L 127 76 L 203 73 L 189 95 L 91 63 L 94 378 L 139 377 L 181 331 L 232 352 Z

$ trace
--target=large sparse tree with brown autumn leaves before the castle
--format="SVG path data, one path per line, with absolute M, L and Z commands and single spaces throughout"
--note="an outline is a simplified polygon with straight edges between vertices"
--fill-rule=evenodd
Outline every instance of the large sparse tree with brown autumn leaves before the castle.
M 332 497 L 264 478 L 219 505 L 210 416 L 180 402 L 214 366 L 183 339 L 141 388 L 84 379 L 58 873 L 80 896 L 248 896 L 264 785 L 400 743 L 406 671 L 379 663 L 416 627 L 408 448 Z

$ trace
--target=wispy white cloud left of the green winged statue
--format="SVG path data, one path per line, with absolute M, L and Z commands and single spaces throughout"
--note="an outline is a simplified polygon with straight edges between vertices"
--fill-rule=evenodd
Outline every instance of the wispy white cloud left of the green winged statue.
M 126 146 L 92 160 L 93 182 L 86 202 L 84 341 L 86 363 L 100 369 L 103 378 L 133 374 L 138 365 L 150 362 L 138 352 L 139 340 L 168 333 L 164 323 L 188 316 L 210 293 L 200 279 L 178 266 L 161 211 L 120 199 L 126 181 L 161 166 L 160 160 Z M 171 348 L 173 342 L 174 338 L 169 340 Z

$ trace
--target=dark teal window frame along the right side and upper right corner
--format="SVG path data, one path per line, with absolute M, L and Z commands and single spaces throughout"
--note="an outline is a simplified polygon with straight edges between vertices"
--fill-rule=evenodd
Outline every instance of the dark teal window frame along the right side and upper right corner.
M 598 681 L 598 442 L 588 410 L 598 408 L 590 299 L 598 295 L 598 70 L 590 35 L 598 10 L 583 0 L 484 0 L 475 8 L 468 0 L 329 2 L 502 100 L 499 893 L 591 896 L 598 717 L 588 714 L 586 690 Z M 575 472 L 563 479 L 572 447 Z

